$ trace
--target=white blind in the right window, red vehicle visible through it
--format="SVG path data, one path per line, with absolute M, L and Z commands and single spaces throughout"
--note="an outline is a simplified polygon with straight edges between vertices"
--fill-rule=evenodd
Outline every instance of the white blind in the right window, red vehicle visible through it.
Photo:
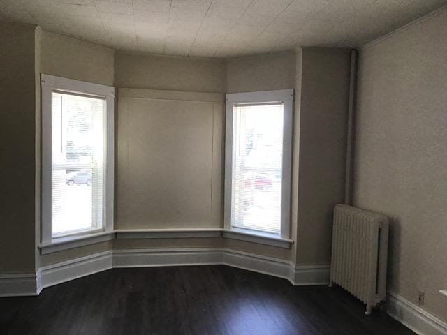
M 233 105 L 232 226 L 279 234 L 284 103 Z

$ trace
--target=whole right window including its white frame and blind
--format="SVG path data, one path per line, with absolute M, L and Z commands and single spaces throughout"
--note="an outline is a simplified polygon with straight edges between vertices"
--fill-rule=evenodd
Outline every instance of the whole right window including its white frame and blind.
M 288 239 L 293 90 L 227 94 L 226 230 Z

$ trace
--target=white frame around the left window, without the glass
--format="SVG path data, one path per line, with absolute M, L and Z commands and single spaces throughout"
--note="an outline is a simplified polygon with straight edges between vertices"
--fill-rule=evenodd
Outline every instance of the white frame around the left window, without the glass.
M 82 94 L 104 98 L 105 114 L 105 145 L 104 145 L 104 202 L 103 221 L 101 228 L 52 236 L 52 92 Z M 79 245 L 97 243 L 113 238 L 113 206 L 114 206 L 114 107 L 115 87 L 80 80 L 72 80 L 53 75 L 41 75 L 41 103 L 42 103 L 42 203 L 41 203 L 41 253 L 45 250 L 57 251 L 73 248 Z M 79 241 L 73 244 L 73 241 Z

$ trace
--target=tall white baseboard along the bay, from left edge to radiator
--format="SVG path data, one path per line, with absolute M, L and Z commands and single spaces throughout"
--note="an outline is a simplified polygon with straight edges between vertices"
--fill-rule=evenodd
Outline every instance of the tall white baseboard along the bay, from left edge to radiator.
M 43 288 L 112 267 L 163 267 L 182 265 L 228 265 L 284 278 L 293 285 L 321 285 L 327 265 L 295 267 L 292 262 L 229 248 L 118 249 L 87 255 L 38 269 L 36 274 L 0 275 L 0 296 L 38 295 Z

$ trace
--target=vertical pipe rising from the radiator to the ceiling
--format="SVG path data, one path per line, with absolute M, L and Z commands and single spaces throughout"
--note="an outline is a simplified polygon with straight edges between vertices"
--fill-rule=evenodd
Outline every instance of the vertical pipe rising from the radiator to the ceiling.
M 348 133 L 346 141 L 346 176 L 344 179 L 344 203 L 352 204 L 353 182 L 353 146 L 354 121 L 356 113 L 356 85 L 357 85 L 357 50 L 351 50 L 351 71 L 349 75 L 349 105 L 348 105 Z

